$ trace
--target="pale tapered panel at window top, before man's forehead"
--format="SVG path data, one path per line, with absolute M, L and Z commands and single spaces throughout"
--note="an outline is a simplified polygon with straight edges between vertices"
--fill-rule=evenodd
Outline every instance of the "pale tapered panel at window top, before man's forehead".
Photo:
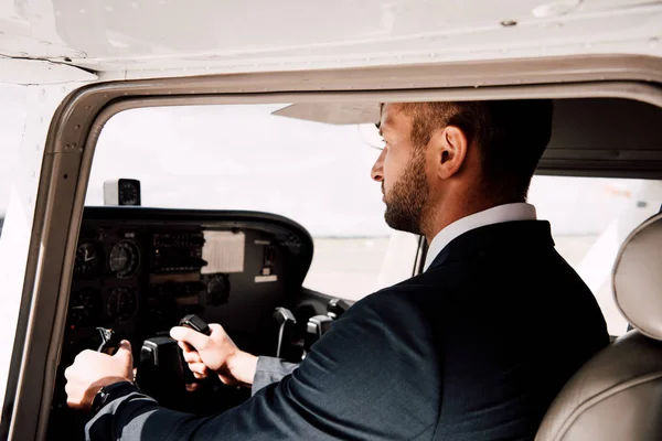
M 332 125 L 376 123 L 378 103 L 298 103 L 271 115 Z

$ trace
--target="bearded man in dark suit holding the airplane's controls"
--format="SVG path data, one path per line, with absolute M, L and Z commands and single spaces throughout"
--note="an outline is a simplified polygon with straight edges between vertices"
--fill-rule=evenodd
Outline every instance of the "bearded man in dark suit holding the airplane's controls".
M 103 405 L 88 438 L 533 439 L 608 344 L 594 297 L 525 204 L 551 121 L 547 100 L 383 106 L 372 178 L 388 225 L 427 238 L 425 271 L 355 303 L 296 369 L 239 351 L 220 325 L 209 337 L 173 329 L 197 376 L 259 383 L 215 417 L 142 395 L 127 343 L 113 357 L 84 352 L 66 389 L 71 406 Z

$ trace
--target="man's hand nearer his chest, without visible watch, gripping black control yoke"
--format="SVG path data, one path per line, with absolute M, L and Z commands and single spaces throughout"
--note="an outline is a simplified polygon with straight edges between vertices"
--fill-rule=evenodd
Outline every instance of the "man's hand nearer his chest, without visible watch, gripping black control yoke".
M 257 357 L 241 351 L 220 324 L 211 323 L 210 330 L 212 333 L 207 336 L 175 326 L 170 330 L 170 336 L 179 342 L 195 378 L 205 378 L 212 370 L 226 385 L 250 386 Z

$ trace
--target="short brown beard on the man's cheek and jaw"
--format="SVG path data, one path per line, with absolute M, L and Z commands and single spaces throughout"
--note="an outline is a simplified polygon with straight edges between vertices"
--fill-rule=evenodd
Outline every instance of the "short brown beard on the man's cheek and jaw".
M 423 214 L 429 192 L 425 175 L 425 154 L 414 152 L 401 179 L 384 198 L 386 224 L 393 229 L 423 235 Z

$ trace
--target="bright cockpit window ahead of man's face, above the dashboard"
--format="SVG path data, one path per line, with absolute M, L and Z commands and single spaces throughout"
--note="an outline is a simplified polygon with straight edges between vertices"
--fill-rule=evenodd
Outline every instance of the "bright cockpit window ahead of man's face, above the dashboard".
M 370 178 L 376 129 L 273 115 L 285 106 L 121 112 L 99 138 L 86 205 L 104 205 L 104 184 L 134 179 L 148 207 L 279 214 L 313 236 L 306 288 L 350 300 L 374 292 L 393 234 Z M 407 244 L 410 276 L 417 247 Z

